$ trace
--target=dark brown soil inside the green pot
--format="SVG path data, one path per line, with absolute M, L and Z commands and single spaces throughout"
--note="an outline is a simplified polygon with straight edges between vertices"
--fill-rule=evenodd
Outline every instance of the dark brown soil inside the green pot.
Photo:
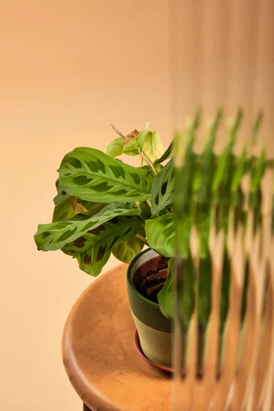
M 155 256 L 142 264 L 132 278 L 136 290 L 154 303 L 158 303 L 158 292 L 162 290 L 166 281 L 167 263 L 167 258 Z

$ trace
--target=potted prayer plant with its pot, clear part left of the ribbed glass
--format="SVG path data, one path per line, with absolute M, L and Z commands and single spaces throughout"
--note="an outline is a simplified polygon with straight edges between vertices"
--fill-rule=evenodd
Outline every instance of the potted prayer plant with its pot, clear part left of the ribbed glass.
M 140 344 L 149 358 L 168 365 L 171 321 L 159 308 L 156 289 L 163 286 L 173 256 L 173 160 L 171 146 L 164 152 L 158 132 L 147 127 L 127 136 L 116 129 L 120 136 L 105 153 L 78 147 L 66 154 L 58 170 L 52 223 L 38 225 L 34 239 L 38 250 L 61 249 L 94 277 L 111 253 L 131 262 L 127 285 Z M 118 160 L 122 153 L 140 155 L 140 166 Z M 151 249 L 140 254 L 144 245 Z M 151 273 L 140 281 L 143 264 Z M 161 354 L 162 336 L 166 348 Z

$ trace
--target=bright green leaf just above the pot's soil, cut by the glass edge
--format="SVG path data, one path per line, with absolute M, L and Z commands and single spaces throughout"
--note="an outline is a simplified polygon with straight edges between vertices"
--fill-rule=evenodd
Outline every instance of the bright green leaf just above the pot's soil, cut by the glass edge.
M 175 253 L 175 220 L 173 213 L 163 214 L 145 221 L 145 232 L 149 247 L 161 256 L 173 257 Z

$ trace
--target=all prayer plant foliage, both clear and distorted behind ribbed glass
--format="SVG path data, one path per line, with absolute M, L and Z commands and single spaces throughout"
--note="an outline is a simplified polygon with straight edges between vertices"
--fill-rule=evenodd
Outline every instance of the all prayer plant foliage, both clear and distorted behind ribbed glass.
M 77 147 L 66 154 L 56 182 L 53 221 L 38 225 L 34 239 L 38 250 L 61 249 L 76 258 L 80 269 L 97 276 L 111 253 L 123 262 L 130 262 L 149 245 L 169 259 L 169 275 L 158 294 L 165 316 L 173 318 L 173 258 L 175 257 L 176 225 L 179 253 L 184 265 L 182 319 L 188 327 L 195 301 L 195 264 L 190 252 L 190 231 L 197 227 L 200 239 L 199 323 L 206 326 L 210 314 L 211 260 L 208 246 L 210 210 L 218 214 L 219 228 L 227 233 L 229 210 L 237 210 L 238 221 L 245 221 L 242 210 L 242 177 L 251 175 L 250 208 L 256 211 L 260 224 L 260 182 L 267 162 L 264 151 L 260 158 L 233 152 L 242 112 L 228 126 L 228 142 L 221 155 L 214 153 L 214 142 L 221 119 L 218 112 L 208 129 L 201 153 L 194 151 L 199 127 L 197 112 L 184 133 L 177 133 L 171 145 L 163 150 L 158 132 L 149 132 L 148 124 L 141 132 L 119 134 L 106 152 Z M 253 138 L 262 119 L 259 114 Z M 175 169 L 177 141 L 184 140 L 184 164 Z M 117 159 L 122 154 L 139 155 L 140 167 Z M 176 177 L 176 178 L 175 178 Z M 175 192 L 177 192 L 175 201 Z M 176 213 L 175 213 L 176 211 Z M 175 219 L 178 221 L 175 223 Z M 225 249 L 221 299 L 221 327 L 228 309 L 229 259 Z M 244 310 L 244 309 L 243 309 Z

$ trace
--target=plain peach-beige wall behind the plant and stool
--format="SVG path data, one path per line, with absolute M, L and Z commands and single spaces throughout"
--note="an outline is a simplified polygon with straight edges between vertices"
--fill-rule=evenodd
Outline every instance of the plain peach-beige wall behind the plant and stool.
M 168 145 L 197 103 L 208 115 L 240 103 L 246 122 L 264 106 L 271 143 L 274 2 L 184 0 L 178 13 L 175 0 L 0 3 L 0 409 L 80 410 L 60 340 L 92 279 L 32 238 L 51 219 L 55 170 L 76 146 L 104 149 L 109 121 L 129 132 L 148 120 Z

